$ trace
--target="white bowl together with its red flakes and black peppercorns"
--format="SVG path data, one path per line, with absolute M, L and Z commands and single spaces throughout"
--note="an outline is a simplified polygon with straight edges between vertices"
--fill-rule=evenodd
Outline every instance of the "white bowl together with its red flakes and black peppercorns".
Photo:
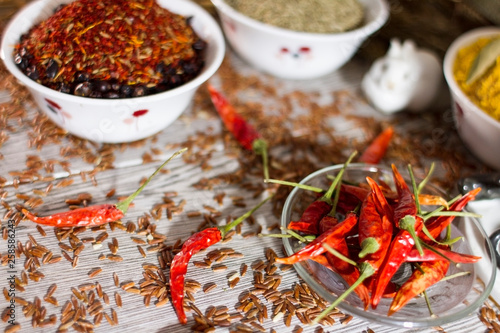
M 225 54 L 215 19 L 187 0 L 38 0 L 9 22 L 1 46 L 40 110 L 106 143 L 173 123 Z

